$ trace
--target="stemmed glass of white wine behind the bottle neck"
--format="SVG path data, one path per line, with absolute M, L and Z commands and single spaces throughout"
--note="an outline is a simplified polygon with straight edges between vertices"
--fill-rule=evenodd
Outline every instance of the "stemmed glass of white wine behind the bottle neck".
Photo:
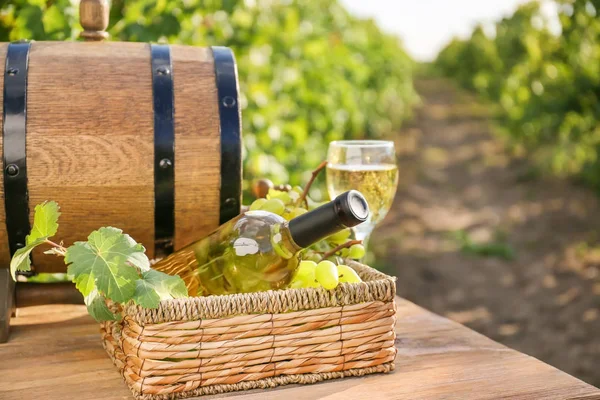
M 388 213 L 398 186 L 394 142 L 384 140 L 339 140 L 329 144 L 327 191 L 333 199 L 355 189 L 369 203 L 369 219 L 352 228 L 365 247 L 371 232 Z

